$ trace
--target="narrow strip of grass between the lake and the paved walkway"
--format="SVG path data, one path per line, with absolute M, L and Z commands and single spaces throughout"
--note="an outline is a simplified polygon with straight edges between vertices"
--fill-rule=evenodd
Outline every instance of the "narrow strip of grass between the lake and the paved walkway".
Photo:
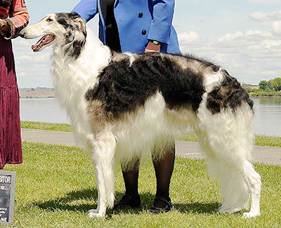
M 66 131 L 66 132 L 72 131 L 69 124 L 59 124 L 59 123 L 37 123 L 37 122 L 22 121 L 21 127 L 27 129 L 58 130 L 58 131 Z M 183 140 L 196 142 L 197 137 L 195 134 L 190 133 Z M 281 137 L 256 135 L 255 145 L 268 146 L 268 147 L 281 147 Z

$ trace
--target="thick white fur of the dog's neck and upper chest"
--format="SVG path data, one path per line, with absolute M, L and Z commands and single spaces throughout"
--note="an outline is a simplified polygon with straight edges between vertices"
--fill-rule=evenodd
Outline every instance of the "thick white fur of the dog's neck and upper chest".
M 110 62 L 110 49 L 87 32 L 86 43 L 78 57 L 67 53 L 69 47 L 55 46 L 52 58 L 53 83 L 58 100 L 64 106 L 79 102 L 86 90 L 97 83 L 98 74 Z

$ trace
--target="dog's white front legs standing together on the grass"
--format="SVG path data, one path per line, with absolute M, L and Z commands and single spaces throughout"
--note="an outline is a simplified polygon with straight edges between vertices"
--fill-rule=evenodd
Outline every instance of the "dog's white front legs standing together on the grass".
M 106 209 L 115 200 L 114 155 L 116 141 L 112 133 L 103 133 L 93 140 L 93 165 L 98 188 L 98 207 L 89 210 L 90 217 L 105 217 Z

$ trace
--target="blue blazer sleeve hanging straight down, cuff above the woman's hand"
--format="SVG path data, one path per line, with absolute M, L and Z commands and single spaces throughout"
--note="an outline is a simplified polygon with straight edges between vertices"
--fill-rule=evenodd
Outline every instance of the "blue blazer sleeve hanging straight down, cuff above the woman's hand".
M 148 39 L 169 44 L 175 0 L 152 0 L 153 15 Z

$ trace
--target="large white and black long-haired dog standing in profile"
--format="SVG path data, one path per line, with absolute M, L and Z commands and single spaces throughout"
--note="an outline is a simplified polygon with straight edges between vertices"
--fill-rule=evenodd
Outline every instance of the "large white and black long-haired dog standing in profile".
M 21 35 L 43 35 L 33 51 L 53 45 L 56 96 L 96 170 L 91 217 L 105 217 L 113 206 L 116 161 L 129 169 L 143 154 L 161 158 L 188 130 L 221 182 L 220 211 L 247 208 L 251 196 L 244 217 L 260 214 L 261 177 L 250 163 L 253 102 L 226 70 L 190 55 L 112 53 L 75 13 L 49 14 Z

